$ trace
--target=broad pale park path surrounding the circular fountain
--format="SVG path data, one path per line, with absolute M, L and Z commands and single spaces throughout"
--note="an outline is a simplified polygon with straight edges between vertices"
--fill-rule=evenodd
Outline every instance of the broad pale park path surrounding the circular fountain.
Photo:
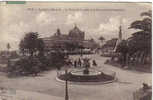
M 74 57 L 75 58 L 75 57 Z M 151 84 L 151 73 L 143 73 L 137 71 L 124 70 L 111 65 L 106 65 L 106 57 L 92 55 L 92 59 L 96 59 L 100 70 L 111 70 L 116 72 L 117 82 L 103 85 L 76 85 L 69 84 L 70 100 L 133 100 L 132 93 L 142 87 L 142 83 Z M 21 91 L 29 91 L 46 95 L 45 100 L 63 100 L 65 95 L 65 84 L 58 82 L 56 71 L 48 71 L 42 73 L 38 77 L 19 77 L 7 78 L 0 76 L 0 87 L 14 88 Z M 27 93 L 26 92 L 26 93 Z M 27 94 L 28 95 L 28 94 Z M 33 99 L 32 99 L 33 100 Z M 36 99 L 34 99 L 36 100 Z

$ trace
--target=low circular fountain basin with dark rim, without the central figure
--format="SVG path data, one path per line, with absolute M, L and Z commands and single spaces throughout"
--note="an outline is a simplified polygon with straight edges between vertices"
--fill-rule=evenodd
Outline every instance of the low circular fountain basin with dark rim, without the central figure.
M 58 79 L 62 81 L 65 81 L 67 79 L 68 81 L 74 83 L 110 83 L 115 80 L 114 76 L 105 74 L 104 72 L 95 69 L 89 68 L 89 74 L 84 74 L 83 71 L 84 69 L 69 71 L 67 74 L 64 73 L 59 75 Z

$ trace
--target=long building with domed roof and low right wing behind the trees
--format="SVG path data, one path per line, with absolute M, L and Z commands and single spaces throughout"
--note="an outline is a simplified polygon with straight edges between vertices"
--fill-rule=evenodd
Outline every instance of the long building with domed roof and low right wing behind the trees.
M 93 48 L 94 41 L 85 40 L 85 32 L 81 31 L 76 25 L 68 33 L 62 34 L 60 29 L 57 29 L 53 36 L 43 38 L 45 50 L 50 51 L 55 48 L 65 50 L 68 47 L 72 48 Z

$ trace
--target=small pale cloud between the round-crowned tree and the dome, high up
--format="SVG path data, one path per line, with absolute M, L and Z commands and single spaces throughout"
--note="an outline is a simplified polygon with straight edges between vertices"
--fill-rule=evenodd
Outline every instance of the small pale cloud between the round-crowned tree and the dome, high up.
M 42 25 L 50 24 L 56 19 L 46 12 L 41 12 L 36 16 L 36 22 Z

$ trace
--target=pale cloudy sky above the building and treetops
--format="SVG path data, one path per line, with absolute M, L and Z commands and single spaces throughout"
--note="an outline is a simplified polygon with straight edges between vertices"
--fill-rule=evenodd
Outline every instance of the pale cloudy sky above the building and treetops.
M 53 35 L 57 28 L 68 34 L 75 24 L 85 32 L 86 39 L 103 36 L 106 40 L 117 38 L 122 26 L 123 39 L 137 30 L 128 29 L 140 14 L 152 9 L 151 3 L 49 3 L 0 4 L 0 50 L 19 48 L 21 39 L 28 32 L 38 32 L 40 37 Z

